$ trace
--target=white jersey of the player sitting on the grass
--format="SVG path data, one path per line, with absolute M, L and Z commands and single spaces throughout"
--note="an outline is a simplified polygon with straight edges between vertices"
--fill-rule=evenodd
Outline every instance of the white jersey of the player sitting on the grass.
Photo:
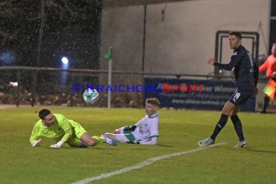
M 135 124 L 137 128 L 132 132 L 132 135 L 136 138 L 136 141 L 146 142 L 150 138 L 159 137 L 159 117 L 158 113 L 152 116 L 146 115 L 138 123 Z

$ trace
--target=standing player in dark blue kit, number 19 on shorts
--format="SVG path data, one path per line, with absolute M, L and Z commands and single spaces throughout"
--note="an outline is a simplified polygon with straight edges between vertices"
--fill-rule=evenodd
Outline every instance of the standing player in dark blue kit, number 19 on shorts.
M 206 63 L 215 65 L 224 70 L 232 70 L 234 67 L 234 76 L 236 78 L 235 92 L 229 101 L 224 105 L 220 119 L 215 126 L 214 133 L 207 139 L 201 140 L 198 144 L 200 147 L 208 146 L 215 143 L 215 138 L 225 126 L 230 116 L 235 131 L 239 137 L 239 142 L 234 147 L 246 148 L 247 142 L 244 138 L 242 123 L 238 117 L 239 106 L 244 104 L 252 94 L 258 94 L 258 68 L 254 64 L 250 53 L 242 46 L 242 35 L 240 32 L 231 31 L 229 33 L 230 48 L 234 49 L 231 60 L 228 64 L 215 62 L 214 58 L 210 58 Z

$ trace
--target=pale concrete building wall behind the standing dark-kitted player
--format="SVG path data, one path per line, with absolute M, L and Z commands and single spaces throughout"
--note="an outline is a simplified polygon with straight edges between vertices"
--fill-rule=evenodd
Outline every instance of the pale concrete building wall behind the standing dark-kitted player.
M 205 61 L 215 56 L 218 30 L 258 31 L 260 52 L 267 54 L 270 0 L 193 0 L 147 6 L 144 72 L 208 75 L 214 67 Z M 104 8 L 102 11 L 101 69 L 113 46 L 113 70 L 142 71 L 144 6 Z M 261 28 L 259 27 L 261 23 Z M 246 40 L 245 47 L 251 49 Z M 232 50 L 223 46 L 223 63 Z

